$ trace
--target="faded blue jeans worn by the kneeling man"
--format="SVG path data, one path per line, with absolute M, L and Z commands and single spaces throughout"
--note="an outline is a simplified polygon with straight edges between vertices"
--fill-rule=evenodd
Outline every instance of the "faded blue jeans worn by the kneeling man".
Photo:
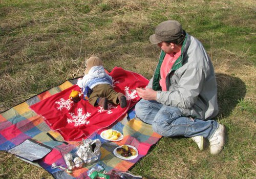
M 165 137 L 203 136 L 210 139 L 219 126 L 214 120 L 184 117 L 179 108 L 156 101 L 140 100 L 135 106 L 135 113 L 140 120 L 151 124 L 155 132 Z

